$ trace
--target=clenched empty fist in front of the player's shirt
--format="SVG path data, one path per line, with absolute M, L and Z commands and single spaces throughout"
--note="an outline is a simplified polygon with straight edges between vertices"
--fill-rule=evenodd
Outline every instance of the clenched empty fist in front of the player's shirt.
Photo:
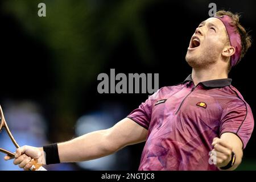
M 232 159 L 232 146 L 226 140 L 217 137 L 213 139 L 212 146 L 210 158 L 216 161 L 215 165 L 218 168 L 228 165 Z

